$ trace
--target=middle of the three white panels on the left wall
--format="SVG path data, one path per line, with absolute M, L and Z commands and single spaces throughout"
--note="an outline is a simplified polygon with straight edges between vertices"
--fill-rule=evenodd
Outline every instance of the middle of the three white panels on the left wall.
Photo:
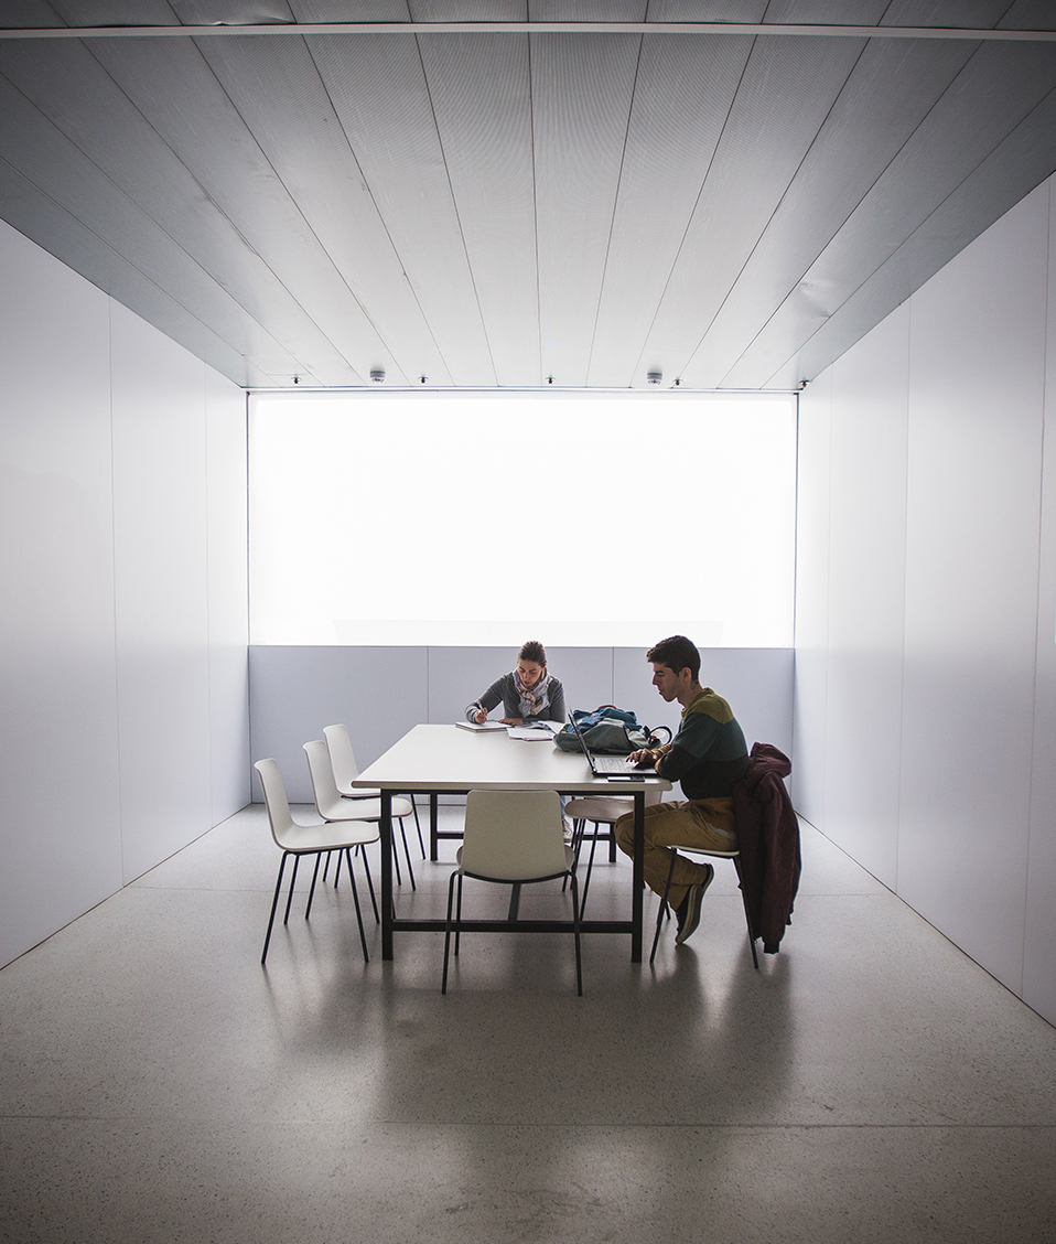
M 205 366 L 112 310 L 124 880 L 211 825 Z

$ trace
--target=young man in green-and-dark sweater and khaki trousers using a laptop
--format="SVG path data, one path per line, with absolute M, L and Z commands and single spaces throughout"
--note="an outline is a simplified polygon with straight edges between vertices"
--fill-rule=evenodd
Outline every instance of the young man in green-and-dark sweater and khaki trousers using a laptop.
M 700 653 L 684 634 L 662 639 L 646 653 L 653 666 L 653 685 L 670 703 L 682 704 L 678 734 L 662 748 L 632 754 L 634 764 L 655 764 L 668 781 L 682 784 L 684 800 L 646 809 L 646 881 L 663 894 L 672 846 L 736 851 L 734 784 L 748 769 L 748 748 L 730 705 L 710 687 L 702 687 Z M 632 855 L 634 816 L 616 822 L 616 841 Z M 668 902 L 678 919 L 675 942 L 683 943 L 700 923 L 700 901 L 715 870 L 675 856 Z

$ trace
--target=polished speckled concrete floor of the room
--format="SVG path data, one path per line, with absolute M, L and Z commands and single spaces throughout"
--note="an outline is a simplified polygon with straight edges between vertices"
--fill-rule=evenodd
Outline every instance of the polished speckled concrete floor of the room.
M 759 973 L 720 865 L 654 969 L 592 937 L 580 999 L 570 938 L 478 934 L 443 998 L 443 934 L 384 964 L 371 918 L 364 967 L 343 882 L 262 970 L 246 809 L 0 972 L 0 1240 L 1056 1239 L 1056 1029 L 808 826 L 804 857 Z M 592 914 L 628 894 L 602 856 Z

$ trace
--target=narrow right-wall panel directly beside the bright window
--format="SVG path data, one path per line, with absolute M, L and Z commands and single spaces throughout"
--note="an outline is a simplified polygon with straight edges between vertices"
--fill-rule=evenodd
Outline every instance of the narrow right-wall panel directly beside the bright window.
M 828 488 L 832 371 L 800 394 L 796 496 L 796 699 L 792 801 L 825 826 L 825 717 L 828 678 Z

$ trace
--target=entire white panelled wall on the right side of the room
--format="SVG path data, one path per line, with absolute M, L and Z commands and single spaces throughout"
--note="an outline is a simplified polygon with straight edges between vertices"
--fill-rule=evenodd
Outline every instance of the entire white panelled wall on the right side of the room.
M 1056 1021 L 1054 199 L 1029 195 L 801 398 L 794 790 Z

